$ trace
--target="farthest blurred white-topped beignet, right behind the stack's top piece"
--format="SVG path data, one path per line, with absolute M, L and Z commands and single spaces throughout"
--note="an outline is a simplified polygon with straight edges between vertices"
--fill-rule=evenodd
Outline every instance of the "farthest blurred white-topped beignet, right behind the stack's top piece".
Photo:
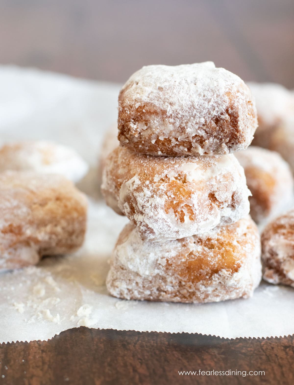
M 294 114 L 294 93 L 276 83 L 248 82 L 247 85 L 255 98 L 258 120 L 252 144 L 271 148 L 270 140 L 277 126 Z

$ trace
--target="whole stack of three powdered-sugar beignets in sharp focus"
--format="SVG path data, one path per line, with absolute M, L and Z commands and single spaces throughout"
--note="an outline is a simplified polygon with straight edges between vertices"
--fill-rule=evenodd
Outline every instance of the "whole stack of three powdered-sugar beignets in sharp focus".
M 257 127 L 249 88 L 212 62 L 143 67 L 119 94 L 120 146 L 102 193 L 131 223 L 114 248 L 107 288 L 125 299 L 248 298 L 261 279 L 250 191 L 232 152 Z

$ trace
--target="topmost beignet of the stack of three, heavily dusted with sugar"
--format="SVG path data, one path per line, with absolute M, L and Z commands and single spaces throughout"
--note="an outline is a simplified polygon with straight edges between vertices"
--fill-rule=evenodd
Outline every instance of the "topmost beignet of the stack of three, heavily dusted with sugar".
M 144 154 L 228 154 L 256 127 L 249 88 L 213 62 L 143 67 L 119 94 L 119 141 Z

